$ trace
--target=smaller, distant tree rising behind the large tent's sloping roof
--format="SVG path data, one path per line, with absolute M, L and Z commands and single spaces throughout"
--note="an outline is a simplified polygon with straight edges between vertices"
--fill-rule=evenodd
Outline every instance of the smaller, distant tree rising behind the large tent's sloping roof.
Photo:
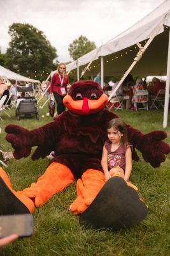
M 96 48 L 94 42 L 90 42 L 86 36 L 79 36 L 78 39 L 75 39 L 72 44 L 69 44 L 69 55 L 73 60 L 77 60 L 87 52 L 92 51 Z

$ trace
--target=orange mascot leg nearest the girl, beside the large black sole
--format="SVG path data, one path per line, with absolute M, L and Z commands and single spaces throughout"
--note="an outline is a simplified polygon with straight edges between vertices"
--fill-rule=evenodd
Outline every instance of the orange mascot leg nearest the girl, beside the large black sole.
M 78 197 L 70 205 L 69 209 L 74 214 L 84 212 L 92 204 L 94 198 L 103 188 L 104 174 L 97 170 L 89 169 L 83 173 L 81 179 L 77 180 L 76 190 Z

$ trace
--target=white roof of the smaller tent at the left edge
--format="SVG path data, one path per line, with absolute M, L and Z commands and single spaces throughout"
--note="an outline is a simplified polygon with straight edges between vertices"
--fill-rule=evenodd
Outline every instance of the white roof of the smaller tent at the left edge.
M 11 70 L 4 68 L 0 65 L 0 76 L 4 79 L 15 80 L 15 81 L 24 81 L 27 83 L 40 83 L 39 80 L 34 80 L 25 76 L 21 76 Z

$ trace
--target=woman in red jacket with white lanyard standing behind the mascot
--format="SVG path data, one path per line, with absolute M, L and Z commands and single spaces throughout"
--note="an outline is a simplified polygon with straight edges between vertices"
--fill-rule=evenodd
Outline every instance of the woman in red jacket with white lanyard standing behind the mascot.
M 57 113 L 60 115 L 66 107 L 62 99 L 67 93 L 67 84 L 69 84 L 69 77 L 66 74 L 66 64 L 60 63 L 55 74 L 53 74 L 52 82 L 50 84 L 50 97 L 53 97 L 57 103 Z

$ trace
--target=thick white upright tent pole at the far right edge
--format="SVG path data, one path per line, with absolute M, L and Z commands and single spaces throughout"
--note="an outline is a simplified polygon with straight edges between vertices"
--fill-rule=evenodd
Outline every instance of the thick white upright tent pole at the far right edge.
M 168 107 L 169 107 L 169 86 L 170 86 L 170 29 L 169 29 L 169 44 L 168 44 L 168 54 L 167 54 L 167 72 L 166 72 L 166 95 L 165 95 L 165 104 L 164 104 L 164 121 L 163 127 L 167 127 L 167 116 L 168 116 Z

